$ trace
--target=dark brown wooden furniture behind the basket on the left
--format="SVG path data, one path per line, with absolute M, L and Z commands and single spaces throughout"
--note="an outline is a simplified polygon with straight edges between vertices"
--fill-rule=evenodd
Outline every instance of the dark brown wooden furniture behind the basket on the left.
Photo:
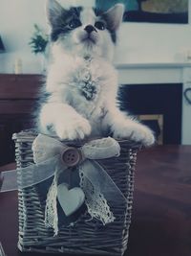
M 32 128 L 40 75 L 0 74 L 0 166 L 14 161 L 12 133 Z

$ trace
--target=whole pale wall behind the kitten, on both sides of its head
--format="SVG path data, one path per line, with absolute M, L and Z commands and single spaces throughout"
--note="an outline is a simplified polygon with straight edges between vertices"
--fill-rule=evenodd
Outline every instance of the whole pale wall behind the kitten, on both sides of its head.
M 69 2 L 90 5 L 94 0 Z M 44 6 L 45 0 L 0 0 L 0 35 L 7 49 L 6 54 L 0 54 L 0 73 L 12 73 L 17 58 L 22 59 L 24 73 L 41 72 L 40 58 L 31 53 L 29 41 L 34 23 L 47 28 Z M 188 25 L 124 23 L 119 32 L 116 61 L 180 62 L 187 52 L 191 55 L 191 22 Z

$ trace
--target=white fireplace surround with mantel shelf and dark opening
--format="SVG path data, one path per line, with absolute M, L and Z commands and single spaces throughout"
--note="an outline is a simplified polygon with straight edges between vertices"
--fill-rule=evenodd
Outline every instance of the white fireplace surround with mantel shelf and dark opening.
M 191 91 L 191 62 L 118 63 L 116 66 L 125 94 L 121 107 L 161 130 L 160 142 L 191 145 L 191 104 L 184 95 L 186 90 Z M 156 119 L 158 124 L 154 122 Z

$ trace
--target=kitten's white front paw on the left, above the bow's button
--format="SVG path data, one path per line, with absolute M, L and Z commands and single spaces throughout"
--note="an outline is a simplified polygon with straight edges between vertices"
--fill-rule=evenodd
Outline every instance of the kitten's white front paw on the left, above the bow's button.
M 69 122 L 58 120 L 54 128 L 56 134 L 62 140 L 84 139 L 85 136 L 91 133 L 91 126 L 88 120 L 83 117 L 74 118 Z

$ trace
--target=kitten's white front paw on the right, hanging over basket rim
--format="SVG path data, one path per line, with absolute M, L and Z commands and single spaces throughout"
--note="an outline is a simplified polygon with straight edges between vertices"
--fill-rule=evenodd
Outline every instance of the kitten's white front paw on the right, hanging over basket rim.
M 131 125 L 127 123 L 117 126 L 114 130 L 114 137 L 141 142 L 145 147 L 149 147 L 155 143 L 155 136 L 152 130 L 136 122 Z

